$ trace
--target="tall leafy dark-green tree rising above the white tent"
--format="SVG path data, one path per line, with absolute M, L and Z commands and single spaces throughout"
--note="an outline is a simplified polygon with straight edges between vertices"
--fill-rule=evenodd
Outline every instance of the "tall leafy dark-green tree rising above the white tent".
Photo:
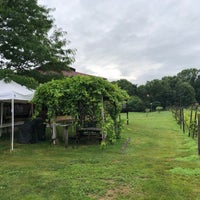
M 0 1 L 1 68 L 15 70 L 38 66 L 66 67 L 74 61 L 74 51 L 66 48 L 61 30 L 54 27 L 50 9 L 37 0 Z

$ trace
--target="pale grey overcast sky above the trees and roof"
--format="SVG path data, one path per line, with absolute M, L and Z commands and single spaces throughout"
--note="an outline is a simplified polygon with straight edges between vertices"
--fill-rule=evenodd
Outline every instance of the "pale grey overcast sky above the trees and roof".
M 39 0 L 76 48 L 77 71 L 133 84 L 200 66 L 199 0 Z

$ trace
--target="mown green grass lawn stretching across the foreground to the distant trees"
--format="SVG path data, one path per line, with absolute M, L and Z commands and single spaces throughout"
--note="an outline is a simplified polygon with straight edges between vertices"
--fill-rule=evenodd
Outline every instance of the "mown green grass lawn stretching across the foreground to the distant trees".
M 44 142 L 15 143 L 10 152 L 9 141 L 0 138 L 0 199 L 200 199 L 196 140 L 170 112 L 129 117 L 122 139 L 103 150 L 97 143 L 65 149 Z

